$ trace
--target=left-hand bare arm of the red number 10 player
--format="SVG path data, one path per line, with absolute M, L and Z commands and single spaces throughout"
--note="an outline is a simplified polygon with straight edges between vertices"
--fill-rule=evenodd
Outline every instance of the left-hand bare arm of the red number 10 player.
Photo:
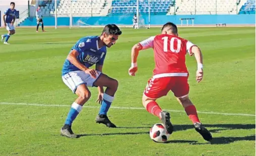
M 135 44 L 132 47 L 132 52 L 131 52 L 131 67 L 129 68 L 129 75 L 135 76 L 135 72 L 138 70 L 137 67 L 137 57 L 139 55 L 139 51 L 142 49 L 142 46 L 138 43 Z

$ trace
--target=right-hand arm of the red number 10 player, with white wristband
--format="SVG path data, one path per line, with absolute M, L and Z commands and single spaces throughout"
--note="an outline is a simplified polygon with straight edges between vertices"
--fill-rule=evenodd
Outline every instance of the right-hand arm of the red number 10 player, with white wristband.
M 197 46 L 193 46 L 191 48 L 191 53 L 194 54 L 197 62 L 196 81 L 197 83 L 199 83 L 202 81 L 202 76 L 203 76 L 202 52 L 200 48 L 198 48 Z

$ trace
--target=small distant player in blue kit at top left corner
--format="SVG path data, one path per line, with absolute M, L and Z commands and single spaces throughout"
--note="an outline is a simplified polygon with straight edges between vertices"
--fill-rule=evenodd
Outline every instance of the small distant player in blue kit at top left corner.
M 4 13 L 3 19 L 4 19 L 4 26 L 8 30 L 8 34 L 2 35 L 2 41 L 6 38 L 4 44 L 9 44 L 8 40 L 11 37 L 11 35 L 15 34 L 15 28 L 14 28 L 14 22 L 16 19 L 16 10 L 15 8 L 15 3 L 11 2 L 11 8 L 7 9 Z

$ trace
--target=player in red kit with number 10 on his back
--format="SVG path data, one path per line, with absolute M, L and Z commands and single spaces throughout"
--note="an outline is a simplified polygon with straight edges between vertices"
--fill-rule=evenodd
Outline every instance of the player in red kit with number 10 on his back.
M 177 26 L 171 22 L 162 28 L 162 34 L 150 37 L 132 48 L 132 63 L 129 74 L 135 76 L 138 70 L 137 57 L 140 50 L 153 48 L 155 56 L 155 69 L 153 76 L 148 81 L 142 97 L 146 110 L 159 117 L 164 123 L 169 134 L 173 132 L 170 122 L 170 113 L 162 111 L 156 100 L 171 90 L 178 102 L 184 107 L 188 117 L 193 122 L 195 130 L 209 141 L 212 134 L 200 123 L 196 108 L 189 100 L 188 70 L 185 64 L 185 55 L 194 55 L 197 61 L 196 81 L 199 83 L 203 76 L 202 53 L 200 49 L 186 39 L 178 37 Z

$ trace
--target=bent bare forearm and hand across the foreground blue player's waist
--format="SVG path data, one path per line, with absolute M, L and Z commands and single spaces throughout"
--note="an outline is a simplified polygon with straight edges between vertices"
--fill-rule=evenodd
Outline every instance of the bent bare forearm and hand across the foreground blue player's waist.
M 74 64 L 76 67 L 78 67 L 79 69 L 83 70 L 85 73 L 88 73 L 90 74 L 91 77 L 93 77 L 94 79 L 96 79 L 96 74 L 97 72 L 94 70 L 94 69 L 89 69 L 87 67 L 85 67 L 82 63 L 80 63 L 78 60 L 77 60 L 77 56 L 79 55 L 78 51 L 76 51 L 75 49 L 73 49 L 67 59 L 72 63 Z

